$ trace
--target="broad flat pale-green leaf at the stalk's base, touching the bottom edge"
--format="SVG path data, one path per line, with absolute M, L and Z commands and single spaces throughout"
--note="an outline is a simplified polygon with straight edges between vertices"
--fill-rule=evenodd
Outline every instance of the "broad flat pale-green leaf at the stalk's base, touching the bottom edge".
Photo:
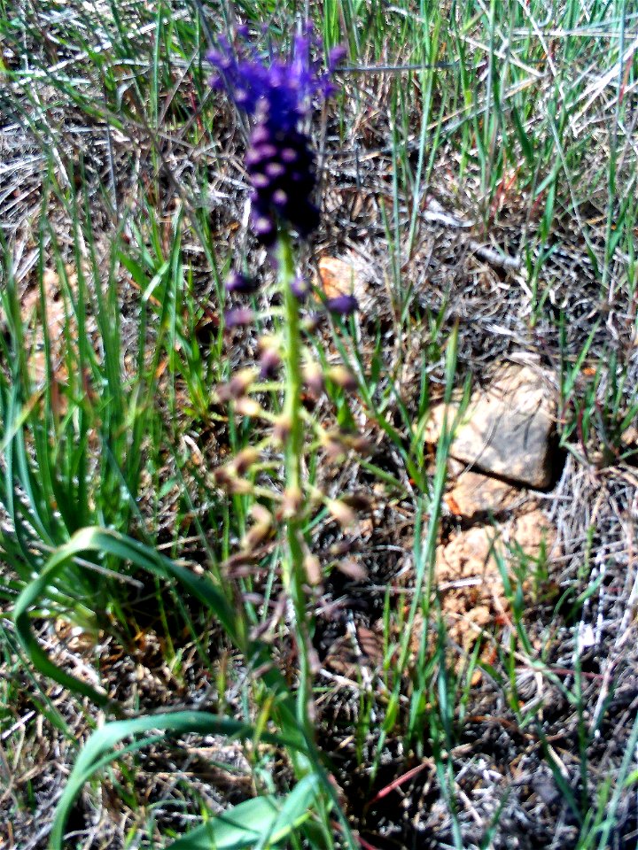
M 304 777 L 284 797 L 256 797 L 178 838 L 167 850 L 261 850 L 283 841 L 310 816 L 318 779 Z

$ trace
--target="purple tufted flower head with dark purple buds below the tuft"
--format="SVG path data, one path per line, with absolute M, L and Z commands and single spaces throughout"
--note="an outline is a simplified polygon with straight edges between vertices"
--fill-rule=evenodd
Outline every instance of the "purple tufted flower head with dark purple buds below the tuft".
M 317 47 L 310 27 L 294 39 L 290 56 L 268 63 L 247 45 L 245 32 L 241 36 L 237 50 L 221 39 L 209 59 L 217 71 L 214 87 L 226 89 L 254 120 L 245 157 L 253 186 L 253 230 L 271 246 L 280 226 L 306 237 L 319 224 L 312 201 L 315 155 L 299 123 L 316 97 L 330 94 L 329 76 L 342 53 L 333 50 L 328 72 L 321 73 L 310 56 Z

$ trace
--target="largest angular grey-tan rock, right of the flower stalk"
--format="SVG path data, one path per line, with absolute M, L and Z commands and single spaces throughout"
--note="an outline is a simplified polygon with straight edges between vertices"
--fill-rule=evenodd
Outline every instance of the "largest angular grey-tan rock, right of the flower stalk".
M 448 411 L 448 423 L 454 416 Z M 531 487 L 551 481 L 549 436 L 556 401 L 542 375 L 529 367 L 502 368 L 485 390 L 471 396 L 450 454 L 483 472 Z M 440 436 L 444 406 L 432 410 L 426 439 Z

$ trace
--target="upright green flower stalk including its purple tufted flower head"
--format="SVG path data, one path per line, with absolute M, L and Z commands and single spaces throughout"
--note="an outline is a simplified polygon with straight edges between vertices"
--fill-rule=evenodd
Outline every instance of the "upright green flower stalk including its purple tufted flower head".
M 294 38 L 292 54 L 287 57 L 266 62 L 243 38 L 236 46 L 222 41 L 220 49 L 210 55 L 217 72 L 214 87 L 225 89 L 252 121 L 245 155 L 251 183 L 251 222 L 257 240 L 276 260 L 283 305 L 283 338 L 280 342 L 268 338 L 261 352 L 261 377 L 281 372 L 284 380 L 284 404 L 273 428 L 273 439 L 284 448 L 284 501 L 277 517 L 285 530 L 282 576 L 292 603 L 290 614 L 300 663 L 297 720 L 308 742 L 314 742 L 314 709 L 312 619 L 307 612 L 306 588 L 308 583 L 319 583 L 320 576 L 316 559 L 309 560 L 303 533 L 309 503 L 303 470 L 306 423 L 302 408 L 305 369 L 301 310 L 307 287 L 297 274 L 295 240 L 307 238 L 318 227 L 319 211 L 313 198 L 315 155 L 310 140 L 300 130 L 300 122 L 318 97 L 330 93 L 331 67 L 338 61 L 338 53 L 333 52 L 328 72 L 321 73 L 311 58 L 316 46 L 307 28 Z M 241 296 L 253 293 L 255 285 L 245 274 L 232 274 L 227 289 L 233 296 Z M 327 307 L 332 312 L 348 313 L 356 307 L 354 299 L 351 301 Z M 229 320 L 231 326 L 238 326 L 251 319 L 251 312 L 245 307 L 236 308 L 227 314 L 227 326 Z M 251 415 L 251 404 L 255 411 L 259 407 L 245 398 L 249 377 L 253 377 L 252 373 L 239 373 L 222 390 L 236 412 L 244 415 Z M 320 390 L 323 382 L 318 375 L 314 383 L 315 390 Z M 271 531 L 263 516 L 257 526 L 251 532 L 253 536 Z M 245 545 L 251 543 L 252 539 L 246 537 Z

